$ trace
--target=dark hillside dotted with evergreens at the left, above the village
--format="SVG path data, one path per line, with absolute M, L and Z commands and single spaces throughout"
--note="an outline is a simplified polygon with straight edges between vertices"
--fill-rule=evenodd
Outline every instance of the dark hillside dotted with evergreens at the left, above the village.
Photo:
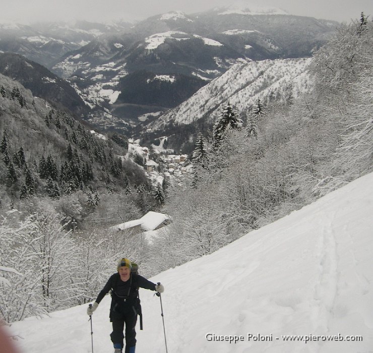
M 50 202 L 80 193 L 98 197 L 147 183 L 144 168 L 132 161 L 135 154 L 127 156 L 126 137 L 93 133 L 1 74 L 0 87 L 2 208 L 18 207 L 18 202 L 27 207 L 28 201 L 37 203 L 34 196 L 49 197 Z

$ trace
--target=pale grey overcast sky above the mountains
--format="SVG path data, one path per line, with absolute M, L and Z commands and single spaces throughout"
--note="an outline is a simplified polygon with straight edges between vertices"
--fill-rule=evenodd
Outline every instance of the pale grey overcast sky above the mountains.
M 142 20 L 152 15 L 180 10 L 187 14 L 235 0 L 1 0 L 0 22 L 31 23 L 42 20 L 108 21 Z M 372 0 L 239 0 L 241 4 L 275 7 L 292 15 L 349 22 L 361 11 L 373 17 Z

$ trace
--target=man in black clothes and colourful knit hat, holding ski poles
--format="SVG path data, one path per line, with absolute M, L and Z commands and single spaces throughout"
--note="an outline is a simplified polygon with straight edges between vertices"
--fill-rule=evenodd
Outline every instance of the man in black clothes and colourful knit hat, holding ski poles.
M 135 353 L 136 321 L 140 313 L 140 300 L 138 288 L 156 290 L 162 293 L 162 284 L 155 284 L 136 273 L 131 273 L 132 263 L 129 259 L 120 259 L 117 263 L 117 273 L 110 276 L 105 286 L 97 296 L 96 301 L 88 307 L 87 314 L 92 315 L 101 300 L 111 290 L 110 322 L 113 331 L 110 334 L 114 345 L 114 353 L 122 353 L 123 329 L 126 324 L 126 349 L 125 353 Z

